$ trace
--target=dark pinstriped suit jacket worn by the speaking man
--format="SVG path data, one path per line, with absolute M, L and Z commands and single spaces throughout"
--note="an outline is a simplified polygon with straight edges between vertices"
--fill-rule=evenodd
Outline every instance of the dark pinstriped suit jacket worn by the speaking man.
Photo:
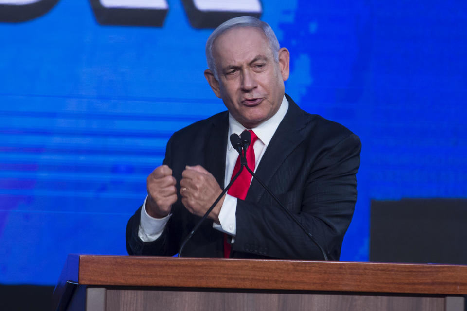
M 286 116 L 272 137 L 256 174 L 296 215 L 330 260 L 339 260 L 342 239 L 357 200 L 360 140 L 344 126 L 301 110 L 290 97 Z M 221 112 L 176 132 L 167 143 L 164 164 L 177 181 L 185 165 L 201 165 L 224 185 L 228 113 Z M 229 142 L 230 143 L 230 142 Z M 177 185 L 177 187 L 180 187 Z M 128 221 L 130 255 L 174 255 L 200 217 L 179 200 L 162 236 L 138 237 L 141 207 Z M 232 257 L 323 259 L 319 248 L 254 179 L 236 208 Z M 223 233 L 207 220 L 186 244 L 183 256 L 223 257 Z

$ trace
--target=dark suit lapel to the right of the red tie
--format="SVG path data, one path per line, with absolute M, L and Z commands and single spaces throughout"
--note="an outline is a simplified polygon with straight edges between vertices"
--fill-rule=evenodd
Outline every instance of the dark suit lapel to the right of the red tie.
M 304 114 L 287 94 L 286 98 L 289 104 L 287 113 L 272 136 L 268 148 L 255 172 L 268 187 L 270 187 L 272 176 L 274 176 L 277 169 L 287 159 L 287 156 L 305 139 L 304 135 L 300 132 L 305 127 Z M 251 202 L 258 202 L 265 191 L 253 179 L 245 199 Z

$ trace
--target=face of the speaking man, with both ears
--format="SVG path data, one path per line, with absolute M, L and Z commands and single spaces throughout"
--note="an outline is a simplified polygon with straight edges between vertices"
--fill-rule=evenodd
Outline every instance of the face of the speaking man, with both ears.
M 287 49 L 279 50 L 276 62 L 263 32 L 242 27 L 220 35 L 213 56 L 219 80 L 209 69 L 206 79 L 237 121 L 253 128 L 277 112 L 289 72 Z

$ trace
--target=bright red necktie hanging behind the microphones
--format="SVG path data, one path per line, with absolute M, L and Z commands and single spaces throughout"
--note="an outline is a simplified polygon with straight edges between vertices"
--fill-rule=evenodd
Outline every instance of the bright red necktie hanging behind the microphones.
M 246 158 L 247 158 L 248 167 L 251 169 L 251 171 L 254 172 L 254 166 L 255 166 L 256 159 L 254 156 L 253 145 L 256 139 L 258 139 L 258 137 L 256 136 L 256 134 L 254 134 L 252 130 L 250 130 L 249 132 L 251 133 L 251 143 L 247 149 Z M 232 173 L 232 177 L 234 177 L 236 173 L 240 171 L 240 166 L 241 166 L 240 155 L 238 155 L 237 162 L 235 163 L 235 167 L 234 167 L 234 173 Z M 232 180 L 232 177 L 231 177 L 231 180 Z M 232 186 L 230 187 L 229 191 L 227 191 L 227 193 L 238 199 L 245 200 L 245 198 L 247 197 L 248 188 L 250 188 L 251 177 L 252 176 L 250 172 L 248 172 L 247 169 L 243 168 L 242 173 L 240 173 L 240 175 L 234 181 L 234 184 L 232 184 Z M 227 234 L 224 234 L 224 257 L 225 258 L 229 257 L 230 249 L 231 249 L 231 244 L 227 242 Z

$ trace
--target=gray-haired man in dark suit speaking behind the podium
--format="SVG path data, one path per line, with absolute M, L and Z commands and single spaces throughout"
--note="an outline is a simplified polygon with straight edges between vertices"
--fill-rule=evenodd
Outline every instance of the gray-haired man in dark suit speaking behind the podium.
M 204 75 L 228 112 L 170 138 L 163 165 L 147 177 L 143 206 L 128 221 L 128 253 L 176 254 L 236 173 L 238 153 L 229 136 L 252 130 L 255 173 L 329 259 L 338 260 L 357 199 L 359 138 L 340 124 L 306 113 L 285 95 L 289 52 L 279 47 L 268 24 L 254 17 L 226 21 L 209 37 L 206 57 Z M 248 177 L 243 194 L 229 190 L 182 255 L 323 259 L 319 247 Z

